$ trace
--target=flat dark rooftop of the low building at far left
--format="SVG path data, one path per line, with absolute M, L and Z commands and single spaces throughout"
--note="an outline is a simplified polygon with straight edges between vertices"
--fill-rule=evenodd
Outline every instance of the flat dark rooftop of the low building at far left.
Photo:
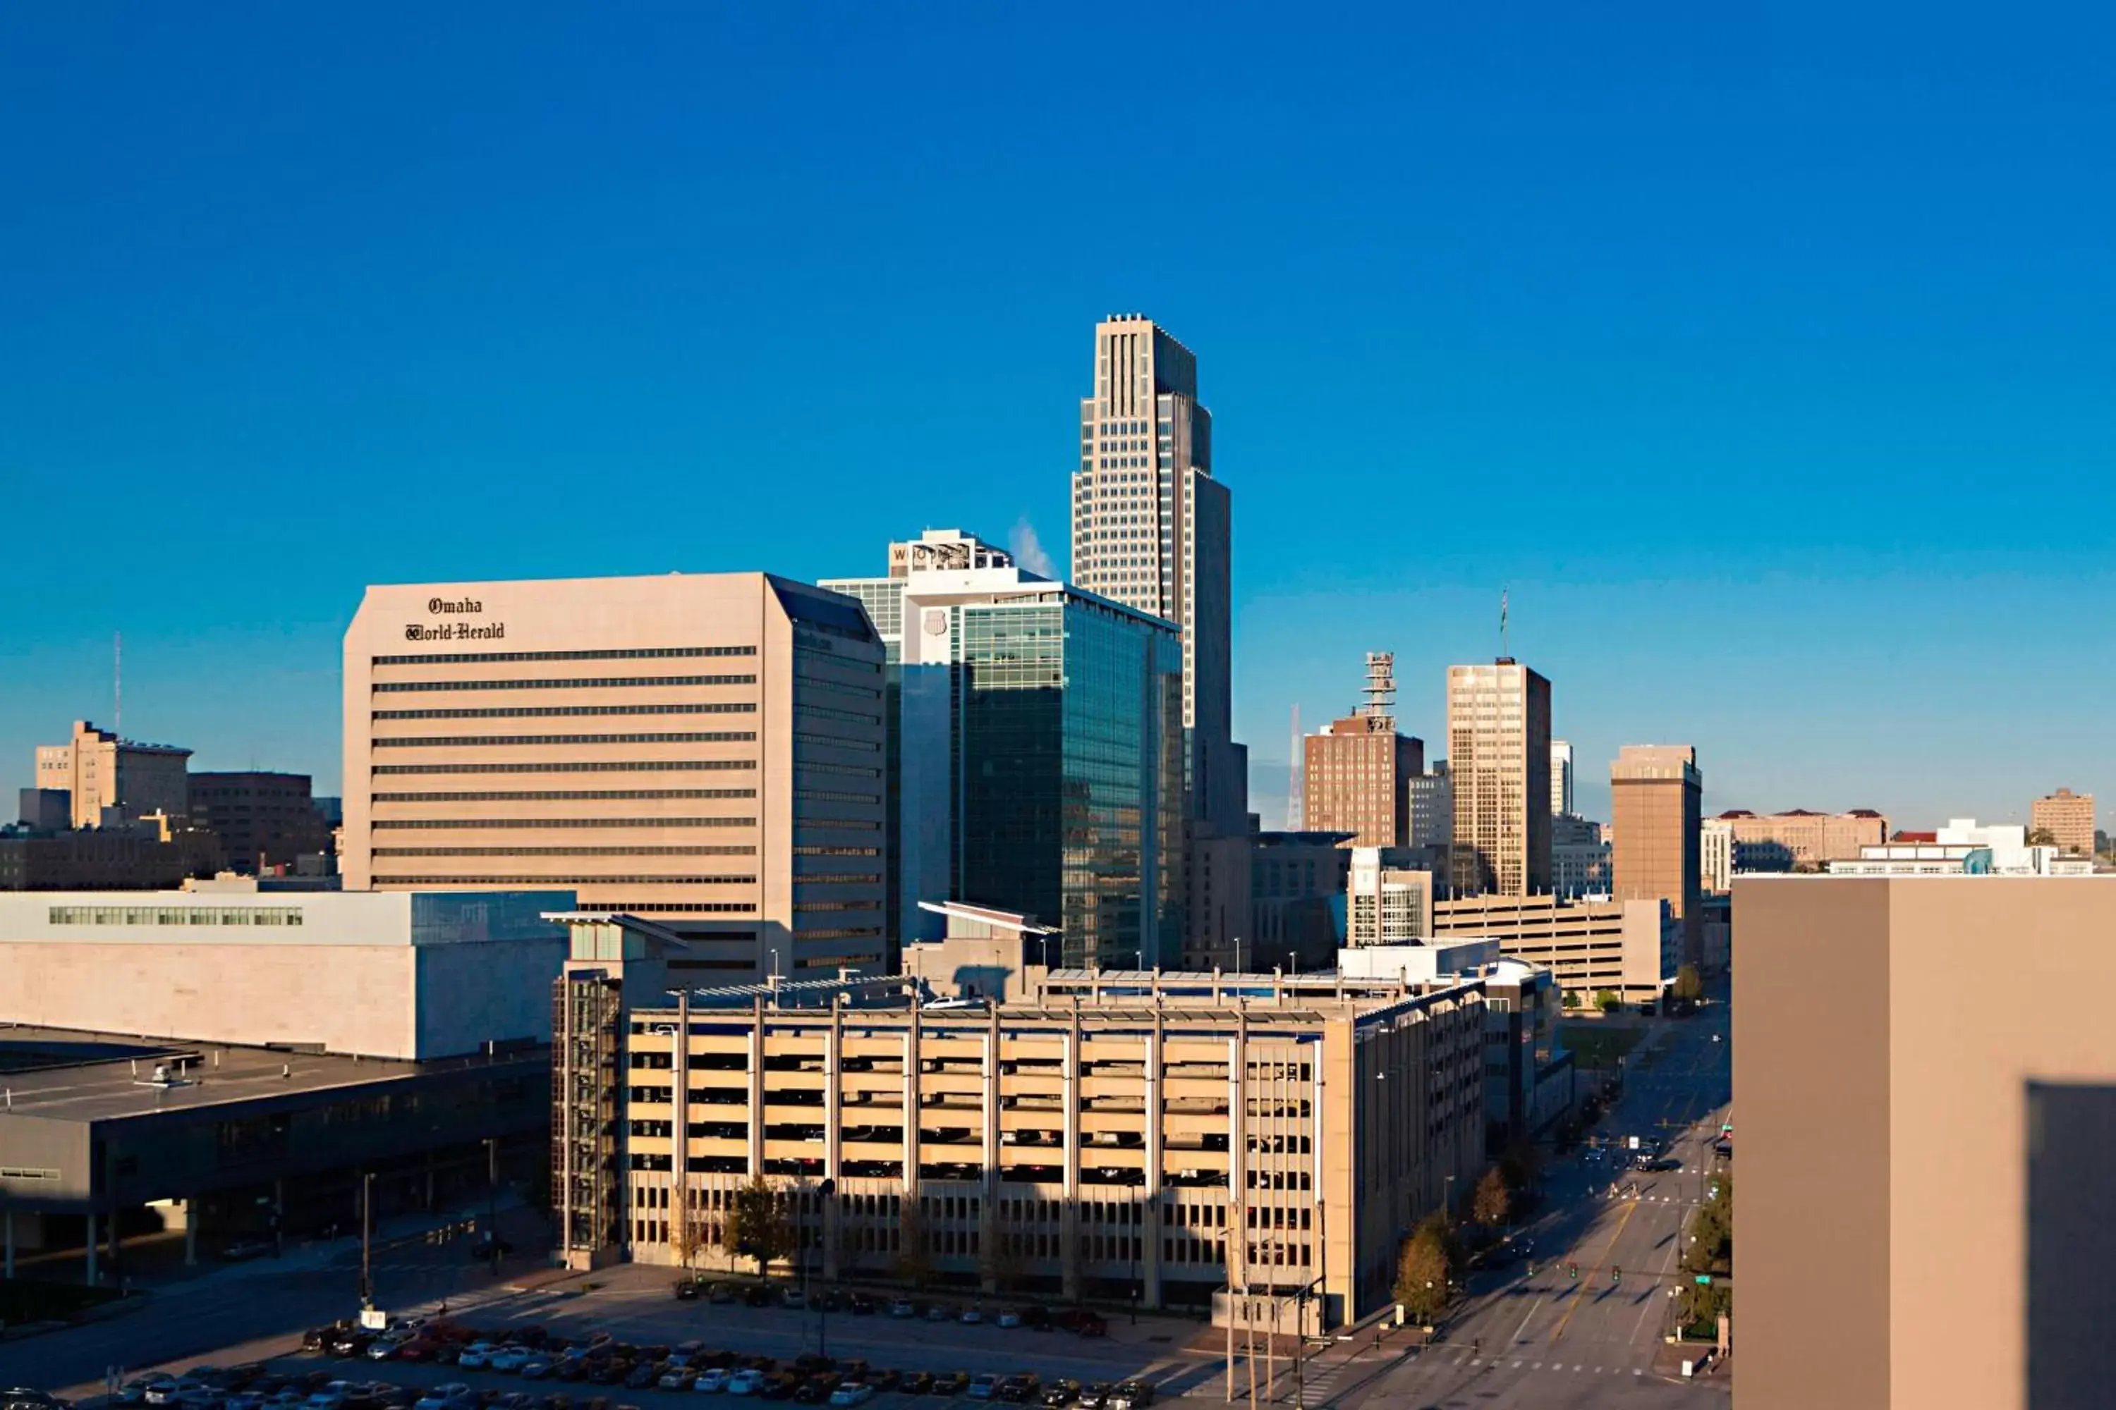
M 180 1038 L 91 1034 L 68 1027 L 0 1027 L 0 1148 L 8 1116 L 44 1120 L 129 1120 L 267 1097 L 353 1091 L 377 1082 L 542 1057 L 546 1049 L 499 1055 L 391 1061 L 336 1053 L 290 1053 Z M 157 1063 L 182 1074 L 152 1082 Z

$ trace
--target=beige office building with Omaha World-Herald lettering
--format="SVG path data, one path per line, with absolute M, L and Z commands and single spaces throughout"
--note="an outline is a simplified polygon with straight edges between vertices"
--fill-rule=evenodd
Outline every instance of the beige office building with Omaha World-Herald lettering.
M 368 588 L 349 890 L 565 888 L 730 979 L 884 964 L 882 647 L 764 573 Z

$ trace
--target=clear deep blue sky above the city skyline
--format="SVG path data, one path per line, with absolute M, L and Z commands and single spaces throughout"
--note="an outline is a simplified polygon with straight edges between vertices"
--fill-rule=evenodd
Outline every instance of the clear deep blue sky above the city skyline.
M 2105 6 L 0 11 L 0 789 L 339 784 L 368 581 L 1066 556 L 1200 355 L 1236 721 L 1555 681 L 1710 805 L 2116 797 Z M 11 810 L 8 810 L 11 812 Z

